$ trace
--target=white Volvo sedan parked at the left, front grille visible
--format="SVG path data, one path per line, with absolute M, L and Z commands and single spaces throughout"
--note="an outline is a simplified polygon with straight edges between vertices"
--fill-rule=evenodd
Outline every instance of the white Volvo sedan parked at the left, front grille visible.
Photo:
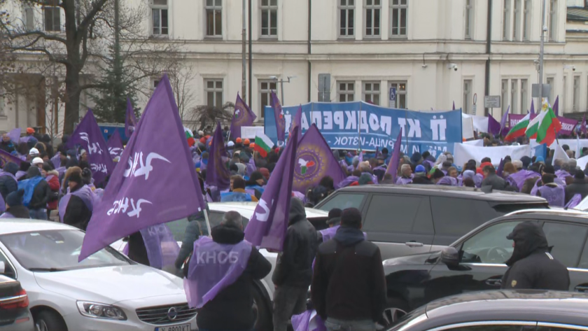
M 181 279 L 111 247 L 78 263 L 84 235 L 62 223 L 0 221 L 4 274 L 27 289 L 37 330 L 197 330 Z

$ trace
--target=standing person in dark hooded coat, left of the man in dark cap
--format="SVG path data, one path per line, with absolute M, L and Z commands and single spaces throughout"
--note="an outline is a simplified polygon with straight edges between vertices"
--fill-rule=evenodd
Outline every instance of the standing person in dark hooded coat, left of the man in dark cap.
M 312 260 L 318 238 L 306 218 L 300 199 L 290 199 L 290 220 L 283 251 L 278 255 L 272 281 L 274 292 L 274 331 L 286 331 L 292 315 L 306 308 L 308 286 L 312 279 Z

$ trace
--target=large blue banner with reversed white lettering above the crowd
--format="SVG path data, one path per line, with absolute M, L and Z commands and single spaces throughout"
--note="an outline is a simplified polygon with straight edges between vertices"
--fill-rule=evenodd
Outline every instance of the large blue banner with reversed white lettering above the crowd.
M 283 107 L 286 135 L 300 106 Z M 272 107 L 265 107 L 265 134 L 277 142 Z M 402 153 L 412 155 L 421 146 L 453 153 L 461 143 L 461 110 L 419 112 L 391 109 L 363 101 L 344 103 L 312 102 L 302 105 L 302 133 L 316 124 L 333 149 L 392 150 L 402 127 Z

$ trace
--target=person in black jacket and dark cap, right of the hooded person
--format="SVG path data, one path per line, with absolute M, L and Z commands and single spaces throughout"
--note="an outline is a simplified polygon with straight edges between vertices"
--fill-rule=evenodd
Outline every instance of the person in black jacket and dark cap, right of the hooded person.
M 386 307 L 380 251 L 360 229 L 360 211 L 345 209 L 335 238 L 318 246 L 310 292 L 327 330 L 375 331 Z

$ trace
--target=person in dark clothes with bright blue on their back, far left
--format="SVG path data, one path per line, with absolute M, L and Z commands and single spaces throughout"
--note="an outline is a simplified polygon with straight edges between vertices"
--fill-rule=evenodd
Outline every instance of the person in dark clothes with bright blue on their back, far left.
M 41 176 L 38 167 L 30 167 L 27 171 L 27 179 L 18 183 L 19 190 L 25 190 L 22 203 L 29 207 L 31 218 L 35 220 L 47 220 L 47 202 L 51 196 L 51 189 L 45 178 Z

